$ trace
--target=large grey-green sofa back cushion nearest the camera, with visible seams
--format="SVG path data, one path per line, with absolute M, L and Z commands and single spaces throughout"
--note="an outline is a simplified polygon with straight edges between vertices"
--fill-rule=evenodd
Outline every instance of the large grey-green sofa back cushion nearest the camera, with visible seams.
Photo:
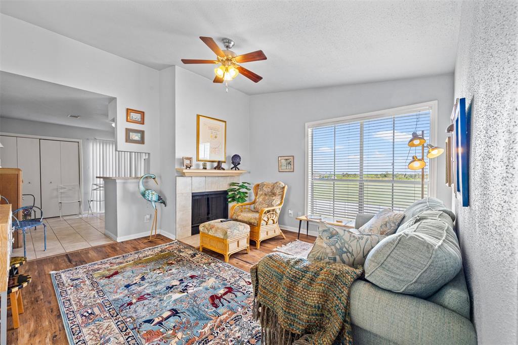
M 450 224 L 424 219 L 378 243 L 364 268 L 383 289 L 426 298 L 461 270 L 461 250 Z

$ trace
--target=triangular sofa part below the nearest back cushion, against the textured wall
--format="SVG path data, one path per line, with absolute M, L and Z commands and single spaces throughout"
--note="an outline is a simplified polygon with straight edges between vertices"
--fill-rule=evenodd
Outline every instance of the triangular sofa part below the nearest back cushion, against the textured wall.
M 450 309 L 466 319 L 470 319 L 470 302 L 464 270 L 461 269 L 449 283 L 427 298 L 430 302 Z

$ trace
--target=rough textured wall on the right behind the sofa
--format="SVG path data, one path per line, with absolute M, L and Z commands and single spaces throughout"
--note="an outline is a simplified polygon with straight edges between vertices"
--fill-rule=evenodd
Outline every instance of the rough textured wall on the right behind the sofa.
M 480 344 L 515 344 L 518 325 L 517 7 L 463 3 L 455 66 L 473 112 L 470 206 L 453 205 Z

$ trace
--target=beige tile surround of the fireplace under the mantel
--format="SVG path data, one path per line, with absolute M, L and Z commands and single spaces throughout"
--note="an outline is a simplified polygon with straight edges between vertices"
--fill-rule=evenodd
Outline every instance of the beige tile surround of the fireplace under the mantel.
M 224 191 L 237 176 L 176 177 L 176 238 L 191 236 L 192 193 Z

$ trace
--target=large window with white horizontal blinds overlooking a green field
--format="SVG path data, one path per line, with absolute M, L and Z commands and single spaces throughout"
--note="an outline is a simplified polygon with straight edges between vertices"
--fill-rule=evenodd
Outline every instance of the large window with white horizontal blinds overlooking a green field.
M 421 148 L 410 148 L 407 143 L 414 131 L 424 131 L 430 141 L 436 105 L 308 123 L 308 213 L 354 219 L 357 213 L 383 208 L 402 211 L 421 199 L 421 170 L 407 167 L 412 155 L 421 157 Z M 430 165 L 426 156 L 425 161 L 427 196 Z

